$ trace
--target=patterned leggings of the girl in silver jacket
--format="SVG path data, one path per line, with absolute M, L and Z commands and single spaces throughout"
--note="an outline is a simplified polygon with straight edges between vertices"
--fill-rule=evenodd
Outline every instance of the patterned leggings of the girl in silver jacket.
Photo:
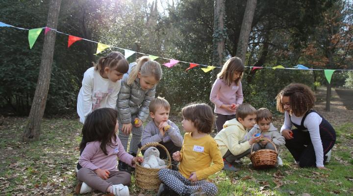
M 136 118 L 136 116 L 132 116 L 131 117 L 131 121 L 133 121 Z M 142 135 L 142 131 L 143 131 L 143 125 L 140 127 L 136 127 L 134 126 L 134 123 L 132 123 L 132 137 L 130 140 L 130 147 L 129 147 L 129 153 L 137 153 L 138 150 L 138 144 L 141 142 L 141 135 Z M 125 151 L 127 152 L 127 142 L 128 142 L 128 138 L 130 135 L 125 135 L 122 131 L 123 129 L 123 124 L 119 123 L 119 134 L 118 137 L 120 139 L 120 141 L 122 142 Z

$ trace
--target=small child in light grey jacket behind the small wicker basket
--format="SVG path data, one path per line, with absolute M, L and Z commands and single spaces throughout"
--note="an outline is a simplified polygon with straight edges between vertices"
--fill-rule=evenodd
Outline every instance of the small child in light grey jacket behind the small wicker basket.
M 256 112 L 256 124 L 246 135 L 248 139 L 252 138 L 252 135 L 260 134 L 260 137 L 264 137 L 272 141 L 277 149 L 278 146 L 285 144 L 284 137 L 277 131 L 277 128 L 272 124 L 272 114 L 270 110 L 266 108 L 260 108 Z M 257 151 L 260 149 L 273 149 L 275 147 L 268 140 L 261 139 L 260 142 L 255 143 L 252 150 Z M 277 156 L 277 165 L 282 166 L 282 159 Z

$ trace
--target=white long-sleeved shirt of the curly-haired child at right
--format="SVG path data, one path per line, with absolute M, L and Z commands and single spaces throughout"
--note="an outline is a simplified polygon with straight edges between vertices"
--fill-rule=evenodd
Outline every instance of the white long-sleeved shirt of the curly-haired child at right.
M 291 121 L 292 120 L 292 121 Z M 294 114 L 289 118 L 289 113 L 284 112 L 284 123 L 281 127 L 280 132 L 284 129 L 291 129 L 293 123 L 301 125 L 303 116 L 296 117 Z M 293 122 L 293 123 L 292 123 Z M 320 138 L 320 128 L 319 125 L 322 122 L 322 118 L 316 112 L 311 112 L 308 114 L 304 120 L 304 127 L 309 131 L 311 143 L 314 147 L 316 156 L 316 167 L 324 167 L 324 148 L 322 146 L 322 141 Z

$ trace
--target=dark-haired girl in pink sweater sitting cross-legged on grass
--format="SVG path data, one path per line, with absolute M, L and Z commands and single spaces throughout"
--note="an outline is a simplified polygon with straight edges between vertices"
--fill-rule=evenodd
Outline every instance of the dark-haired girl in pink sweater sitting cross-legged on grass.
M 117 117 L 118 112 L 112 108 L 97 109 L 87 116 L 80 144 L 83 152 L 78 160 L 82 168 L 77 172 L 77 179 L 83 183 L 77 185 L 76 193 L 96 189 L 114 196 L 129 196 L 126 185 L 130 184 L 131 176 L 117 170 L 117 157 L 132 167 L 143 158 L 133 157 L 124 150 L 116 136 Z

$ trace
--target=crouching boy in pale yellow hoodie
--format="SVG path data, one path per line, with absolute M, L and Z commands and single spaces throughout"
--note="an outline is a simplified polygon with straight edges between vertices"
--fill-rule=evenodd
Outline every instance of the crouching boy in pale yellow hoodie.
M 236 118 L 226 121 L 223 129 L 214 138 L 223 157 L 223 170 L 238 171 L 233 166 L 234 162 L 250 154 L 252 144 L 261 139 L 261 136 L 252 136 L 249 141 L 245 138 L 248 130 L 255 125 L 255 119 L 256 109 L 243 103 L 236 110 Z

